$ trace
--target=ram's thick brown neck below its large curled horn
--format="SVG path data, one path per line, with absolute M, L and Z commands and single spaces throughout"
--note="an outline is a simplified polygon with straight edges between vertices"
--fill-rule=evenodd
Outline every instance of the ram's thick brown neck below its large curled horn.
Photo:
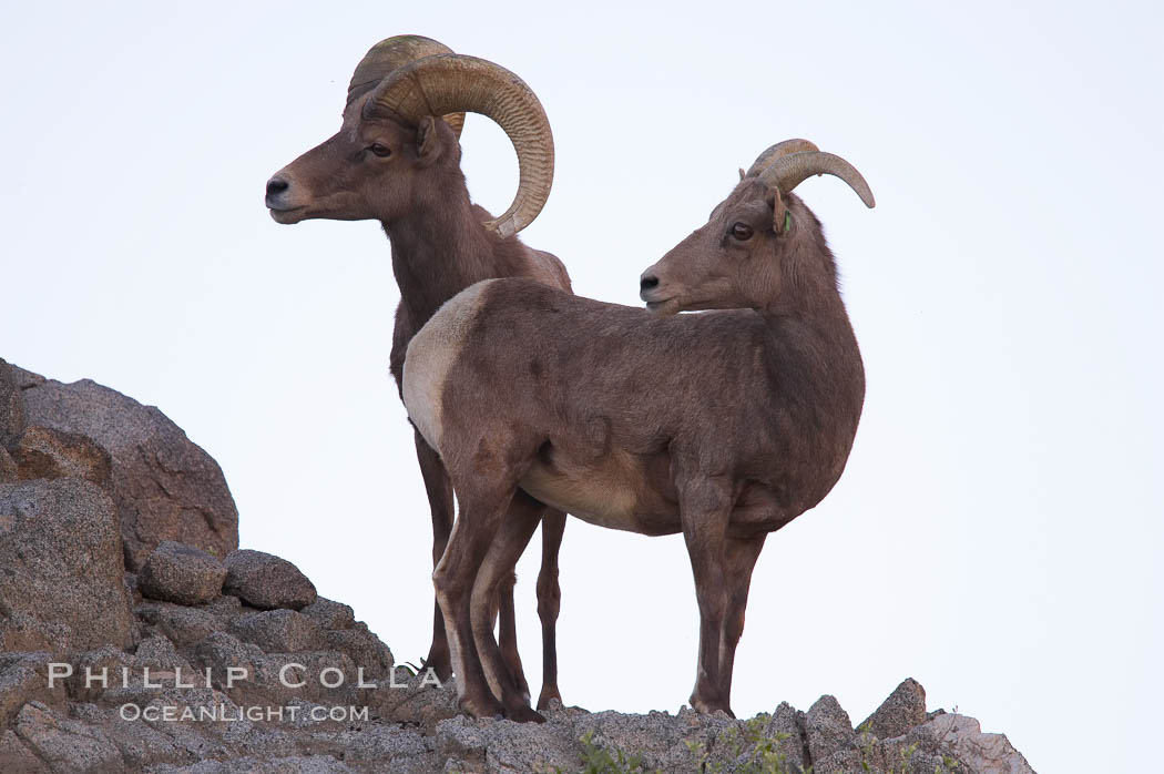
M 413 214 L 383 226 L 392 243 L 400 303 L 420 327 L 441 304 L 499 271 L 494 265 L 495 240 L 474 213 L 463 184 L 413 205 Z

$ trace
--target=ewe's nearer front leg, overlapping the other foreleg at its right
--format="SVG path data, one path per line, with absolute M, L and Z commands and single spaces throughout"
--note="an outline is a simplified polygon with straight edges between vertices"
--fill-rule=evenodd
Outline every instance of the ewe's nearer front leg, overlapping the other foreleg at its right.
M 731 715 L 719 677 L 719 638 L 728 599 L 724 534 L 731 516 L 731 484 L 722 478 L 702 478 L 681 483 L 679 491 L 680 519 L 700 604 L 700 663 L 690 702 L 700 712 L 723 710 Z

